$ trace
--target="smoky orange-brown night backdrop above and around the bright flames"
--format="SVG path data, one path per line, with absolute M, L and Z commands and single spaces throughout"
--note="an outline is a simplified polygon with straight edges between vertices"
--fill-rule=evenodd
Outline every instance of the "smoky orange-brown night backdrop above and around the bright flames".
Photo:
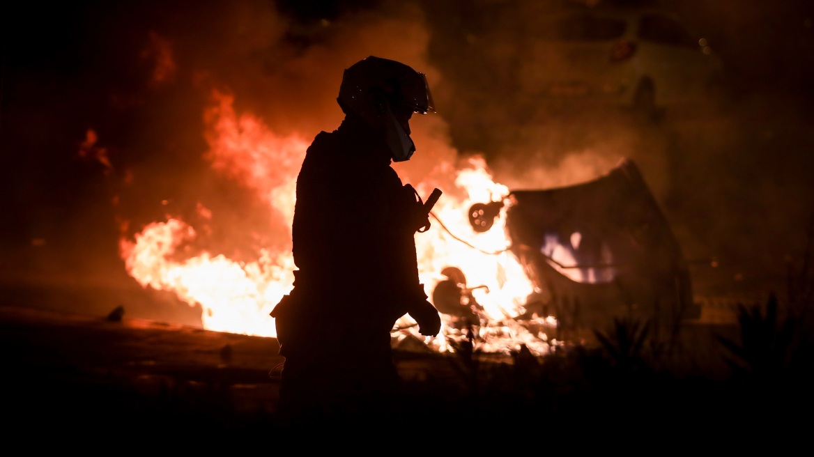
M 427 72 L 444 130 L 433 137 L 459 157 L 483 155 L 510 188 L 574 184 L 635 160 L 688 259 L 719 259 L 694 270 L 715 294 L 779 287 L 802 265 L 814 214 L 812 2 L 663 2 L 724 60 L 729 102 L 650 126 L 604 112 L 558 118 L 512 91 L 522 50 L 508 37 L 534 20 L 526 2 L 301 3 L 7 2 L 3 283 L 129 284 L 119 237 L 168 213 L 193 217 L 199 201 L 223 221 L 212 246 L 239 258 L 253 242 L 243 225 L 280 228 L 203 159 L 209 88 L 310 141 L 341 120 L 342 69 L 371 54 Z M 142 311 L 168 317 L 156 313 Z

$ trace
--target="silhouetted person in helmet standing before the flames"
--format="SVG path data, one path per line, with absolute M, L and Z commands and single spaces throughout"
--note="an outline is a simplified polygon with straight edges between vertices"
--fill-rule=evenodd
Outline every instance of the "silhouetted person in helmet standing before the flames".
M 434 111 L 427 80 L 371 56 L 345 70 L 337 102 L 344 120 L 317 134 L 297 177 L 294 288 L 271 313 L 285 356 L 280 412 L 295 424 L 392 420 L 396 320 L 409 313 L 423 335 L 440 332 L 418 279 L 427 210 L 391 168 L 415 150 L 413 113 Z

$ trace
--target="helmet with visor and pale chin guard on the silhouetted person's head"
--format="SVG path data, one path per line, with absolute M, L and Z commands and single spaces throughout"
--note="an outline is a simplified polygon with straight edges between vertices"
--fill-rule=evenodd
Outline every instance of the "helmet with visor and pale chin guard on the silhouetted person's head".
M 346 115 L 384 128 L 394 162 L 409 160 L 415 152 L 409 116 L 435 112 L 427 76 L 404 63 L 372 55 L 345 69 L 336 101 Z

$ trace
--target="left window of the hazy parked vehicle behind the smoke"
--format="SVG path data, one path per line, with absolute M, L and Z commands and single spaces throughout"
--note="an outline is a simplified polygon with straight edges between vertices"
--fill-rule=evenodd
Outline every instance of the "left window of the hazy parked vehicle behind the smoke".
M 603 41 L 624 33 L 624 20 L 590 14 L 570 15 L 544 26 L 542 38 L 549 41 Z

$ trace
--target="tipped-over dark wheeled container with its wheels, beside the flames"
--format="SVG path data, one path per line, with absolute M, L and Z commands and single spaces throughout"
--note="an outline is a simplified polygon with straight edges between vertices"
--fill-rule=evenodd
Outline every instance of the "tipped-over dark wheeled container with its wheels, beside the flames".
M 515 189 L 502 201 L 475 203 L 469 217 L 479 233 L 505 218 L 510 251 L 534 285 L 514 320 L 554 316 L 562 338 L 621 316 L 666 331 L 696 314 L 681 246 L 629 159 L 593 181 Z M 436 285 L 435 306 L 453 322 L 476 324 L 473 288 L 457 268 L 444 274 L 449 279 Z

